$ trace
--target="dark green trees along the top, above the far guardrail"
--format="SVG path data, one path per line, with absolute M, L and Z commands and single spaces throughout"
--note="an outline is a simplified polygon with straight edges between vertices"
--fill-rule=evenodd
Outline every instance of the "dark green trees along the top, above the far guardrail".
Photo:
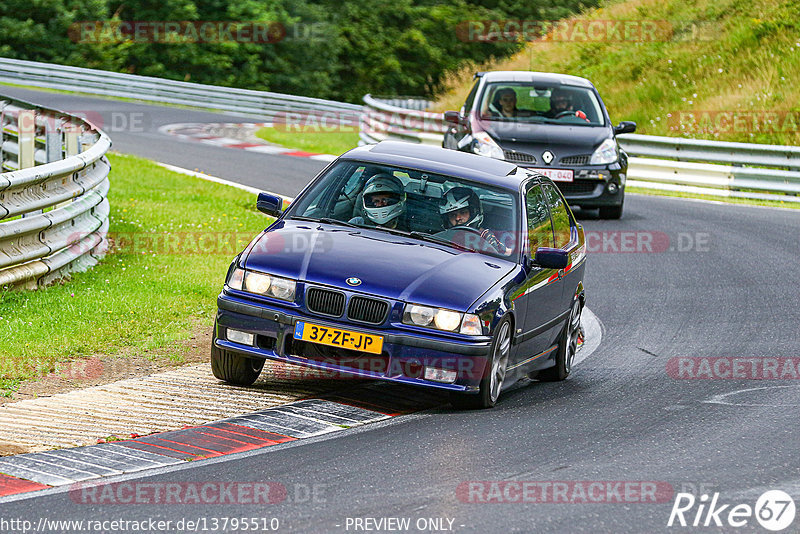
M 429 96 L 465 65 L 520 49 L 467 42 L 459 23 L 553 19 L 583 7 L 576 0 L 4 0 L 0 55 L 360 102 L 365 93 Z M 272 22 L 286 35 L 274 43 L 80 39 L 85 21 Z

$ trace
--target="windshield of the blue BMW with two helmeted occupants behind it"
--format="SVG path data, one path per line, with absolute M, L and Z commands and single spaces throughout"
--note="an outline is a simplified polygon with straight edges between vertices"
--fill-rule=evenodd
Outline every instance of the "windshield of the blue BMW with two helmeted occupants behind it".
M 509 258 L 517 243 L 516 193 L 454 176 L 341 160 L 289 207 L 310 218 Z

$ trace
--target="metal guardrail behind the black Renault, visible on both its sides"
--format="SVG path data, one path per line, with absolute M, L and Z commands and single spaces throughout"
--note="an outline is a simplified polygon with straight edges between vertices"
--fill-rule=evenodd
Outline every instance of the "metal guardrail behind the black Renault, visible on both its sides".
M 441 146 L 448 128 L 443 114 L 402 105 L 402 101 L 364 96 L 360 143 L 396 139 Z M 636 134 L 618 139 L 631 156 L 628 185 L 800 202 L 800 147 Z

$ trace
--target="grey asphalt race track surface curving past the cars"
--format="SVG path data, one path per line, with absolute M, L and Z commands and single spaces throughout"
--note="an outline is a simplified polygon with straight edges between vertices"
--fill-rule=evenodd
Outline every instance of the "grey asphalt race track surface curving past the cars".
M 38 100 L 48 103 L 48 98 L 42 94 Z M 61 107 L 73 98 L 52 97 Z M 174 109 L 154 115 L 159 123 L 199 121 L 195 116 L 220 120 Z M 312 167 L 319 167 L 281 156 L 267 160 L 241 151 L 193 148 L 152 131 L 116 135 L 114 142 L 120 151 L 200 167 L 250 185 L 264 180 L 264 187 L 287 193 L 297 191 Z M 620 221 L 597 220 L 591 213 L 580 218 L 591 236 L 588 305 L 602 321 L 604 336 L 566 382 L 521 384 L 493 410 L 442 408 L 328 439 L 129 477 L 138 482 L 275 481 L 289 491 L 290 498 L 280 504 L 99 506 L 76 504 L 67 493 L 48 490 L 3 504 L 2 516 L 33 521 L 275 517 L 281 531 L 294 532 L 363 532 L 353 518 L 367 517 L 410 518 L 412 527 L 421 525 L 416 525 L 419 519 L 446 518 L 457 532 L 763 532 L 754 517 L 746 518 L 744 527 L 729 526 L 732 506 L 719 516 L 726 522 L 722 529 L 666 525 L 674 492 L 683 490 L 718 492 L 719 504 L 751 507 L 766 490 L 800 499 L 800 382 L 674 378 L 674 359 L 724 358 L 716 360 L 722 362 L 717 373 L 724 374 L 733 358 L 763 362 L 800 356 L 795 289 L 800 212 L 630 195 Z M 623 237 L 619 232 L 638 233 Z M 615 251 L 631 246 L 631 240 L 644 243 L 644 250 Z M 656 243 L 652 252 L 648 242 Z M 787 373 L 783 360 L 778 362 L 778 372 Z M 743 367 L 736 369 L 747 374 Z M 658 488 L 666 484 L 670 491 L 658 503 L 636 498 L 588 504 L 579 499 L 464 502 L 470 493 L 458 488 L 470 481 L 584 481 L 582 487 L 590 481 L 646 481 Z M 312 487 L 316 496 L 304 491 Z M 514 495 L 508 493 L 512 500 Z M 492 494 L 476 491 L 473 500 L 481 496 Z M 690 523 L 697 510 L 695 505 L 686 512 Z M 445 521 L 443 528 L 448 525 Z M 798 531 L 800 518 L 783 532 Z

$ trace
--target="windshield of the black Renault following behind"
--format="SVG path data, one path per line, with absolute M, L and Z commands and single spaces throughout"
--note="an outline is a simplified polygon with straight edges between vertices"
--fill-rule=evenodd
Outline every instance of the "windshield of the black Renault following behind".
M 603 126 L 605 118 L 594 92 L 585 87 L 500 82 L 486 85 L 482 119 L 509 122 Z

